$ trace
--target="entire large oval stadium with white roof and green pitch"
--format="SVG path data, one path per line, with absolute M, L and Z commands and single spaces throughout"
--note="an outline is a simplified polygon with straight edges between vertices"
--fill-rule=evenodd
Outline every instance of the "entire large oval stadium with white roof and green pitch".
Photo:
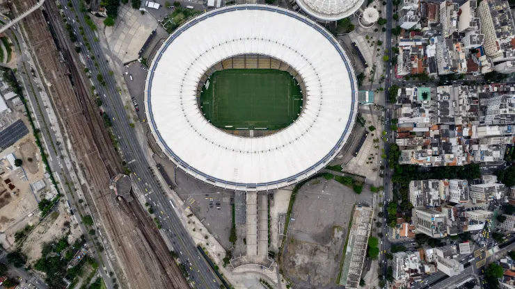
M 275 6 L 209 11 L 155 53 L 144 90 L 157 145 L 219 188 L 276 190 L 317 174 L 356 119 L 347 54 L 316 22 Z

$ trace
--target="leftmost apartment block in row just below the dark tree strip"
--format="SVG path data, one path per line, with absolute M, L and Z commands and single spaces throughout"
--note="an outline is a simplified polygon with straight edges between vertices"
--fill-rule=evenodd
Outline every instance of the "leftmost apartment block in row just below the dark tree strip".
M 409 183 L 409 199 L 414 207 L 440 206 L 440 181 L 411 181 Z

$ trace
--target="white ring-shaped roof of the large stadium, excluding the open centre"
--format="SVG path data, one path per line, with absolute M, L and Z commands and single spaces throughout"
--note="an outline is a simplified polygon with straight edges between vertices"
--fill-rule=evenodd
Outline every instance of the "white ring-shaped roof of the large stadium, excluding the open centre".
M 301 115 L 261 138 L 230 135 L 207 122 L 196 89 L 209 67 L 258 53 L 283 60 L 306 85 Z M 145 113 L 161 149 L 187 174 L 230 190 L 273 190 L 322 170 L 356 118 L 357 82 L 338 41 L 290 10 L 237 5 L 177 28 L 157 51 L 145 84 Z

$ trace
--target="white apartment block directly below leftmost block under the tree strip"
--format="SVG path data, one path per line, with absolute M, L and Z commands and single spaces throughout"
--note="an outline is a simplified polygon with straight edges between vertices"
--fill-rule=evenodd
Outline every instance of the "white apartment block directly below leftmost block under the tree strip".
M 413 225 L 417 233 L 425 233 L 431 238 L 447 236 L 445 215 L 431 208 L 413 208 Z

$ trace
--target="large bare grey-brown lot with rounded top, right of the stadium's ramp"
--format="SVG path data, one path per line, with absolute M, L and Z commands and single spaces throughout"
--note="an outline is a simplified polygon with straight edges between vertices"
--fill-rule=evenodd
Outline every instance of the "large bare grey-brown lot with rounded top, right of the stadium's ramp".
M 319 178 L 297 192 L 287 231 L 285 276 L 303 288 L 335 288 L 352 206 L 370 201 L 351 188 Z

